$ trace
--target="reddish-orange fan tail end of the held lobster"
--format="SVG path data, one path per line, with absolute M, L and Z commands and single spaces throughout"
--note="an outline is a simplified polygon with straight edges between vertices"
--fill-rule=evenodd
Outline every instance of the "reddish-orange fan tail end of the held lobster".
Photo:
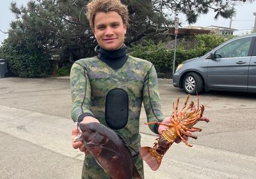
M 149 146 L 143 146 L 140 148 L 140 156 L 145 162 L 148 164 L 150 169 L 153 171 L 156 171 L 160 164 L 162 157 L 157 157 L 156 155 L 152 155 L 152 152 L 154 152 L 154 148 L 151 148 Z M 157 153 L 156 153 L 157 154 Z

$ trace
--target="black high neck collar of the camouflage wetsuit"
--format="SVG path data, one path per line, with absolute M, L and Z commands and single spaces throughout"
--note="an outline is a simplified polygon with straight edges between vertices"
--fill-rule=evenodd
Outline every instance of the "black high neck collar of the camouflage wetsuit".
M 116 51 L 106 51 L 102 49 L 99 45 L 95 47 L 95 52 L 97 52 L 98 58 L 106 63 L 109 67 L 117 70 L 121 68 L 125 61 L 128 59 L 127 57 L 127 47 L 123 45 L 120 49 Z

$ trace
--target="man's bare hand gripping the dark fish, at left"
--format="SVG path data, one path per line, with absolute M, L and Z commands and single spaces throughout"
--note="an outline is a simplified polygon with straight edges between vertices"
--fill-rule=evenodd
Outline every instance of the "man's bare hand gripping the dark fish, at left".
M 99 120 L 97 120 L 96 118 L 93 118 L 92 116 L 86 116 L 83 118 L 83 121 L 81 121 L 81 123 L 92 123 L 92 122 L 95 122 L 95 123 L 100 123 Z M 74 127 L 72 129 L 72 146 L 74 149 L 77 149 L 79 148 L 79 150 L 81 152 L 84 152 L 85 154 L 88 154 L 88 150 L 86 150 L 85 146 L 84 146 L 84 143 L 83 141 L 74 141 L 74 138 L 78 135 L 78 130 L 77 130 L 77 127 Z

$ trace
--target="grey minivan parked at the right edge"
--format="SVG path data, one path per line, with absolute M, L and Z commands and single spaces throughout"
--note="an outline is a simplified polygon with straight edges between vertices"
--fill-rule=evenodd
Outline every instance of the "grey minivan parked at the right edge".
M 256 33 L 222 43 L 180 64 L 173 86 L 196 95 L 203 89 L 256 92 Z

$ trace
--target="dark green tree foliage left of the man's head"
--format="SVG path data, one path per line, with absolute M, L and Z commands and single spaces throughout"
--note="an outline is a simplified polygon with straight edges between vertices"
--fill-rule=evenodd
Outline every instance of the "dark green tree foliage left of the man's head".
M 84 1 L 29 1 L 27 6 L 11 10 L 17 20 L 10 24 L 8 35 L 21 42 L 28 39 L 36 47 L 44 47 L 48 54 L 76 60 L 90 56 L 95 40 L 83 14 Z

